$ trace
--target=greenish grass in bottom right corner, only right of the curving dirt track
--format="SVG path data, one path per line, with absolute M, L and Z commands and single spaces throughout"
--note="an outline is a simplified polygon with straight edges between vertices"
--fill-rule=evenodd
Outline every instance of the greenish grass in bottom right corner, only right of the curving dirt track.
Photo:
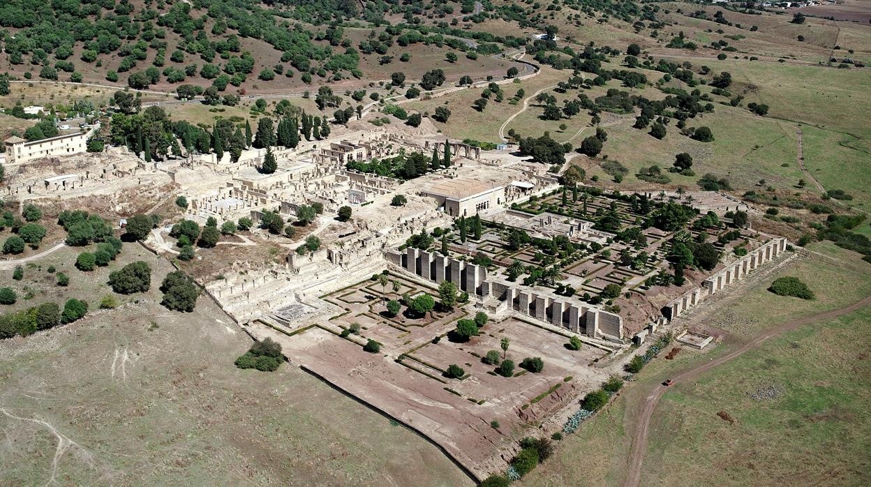
M 864 308 L 678 384 L 651 425 L 642 478 L 657 481 L 645 484 L 868 484 L 869 337 Z M 751 396 L 766 389 L 771 398 Z

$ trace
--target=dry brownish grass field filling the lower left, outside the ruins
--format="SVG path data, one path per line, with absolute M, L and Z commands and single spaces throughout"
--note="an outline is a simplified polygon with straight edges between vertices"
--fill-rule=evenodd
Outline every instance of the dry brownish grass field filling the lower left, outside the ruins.
M 165 260 L 125 244 L 85 275 L 68 268 L 77 253 L 57 251 L 15 284 L 36 290 L 16 307 L 72 295 L 91 312 L 3 341 L 0 484 L 469 484 L 435 446 L 300 369 L 236 369 L 251 340 L 211 301 L 191 314 L 159 305 Z M 138 259 L 152 290 L 98 310 L 108 272 Z M 70 287 L 46 281 L 51 264 Z

